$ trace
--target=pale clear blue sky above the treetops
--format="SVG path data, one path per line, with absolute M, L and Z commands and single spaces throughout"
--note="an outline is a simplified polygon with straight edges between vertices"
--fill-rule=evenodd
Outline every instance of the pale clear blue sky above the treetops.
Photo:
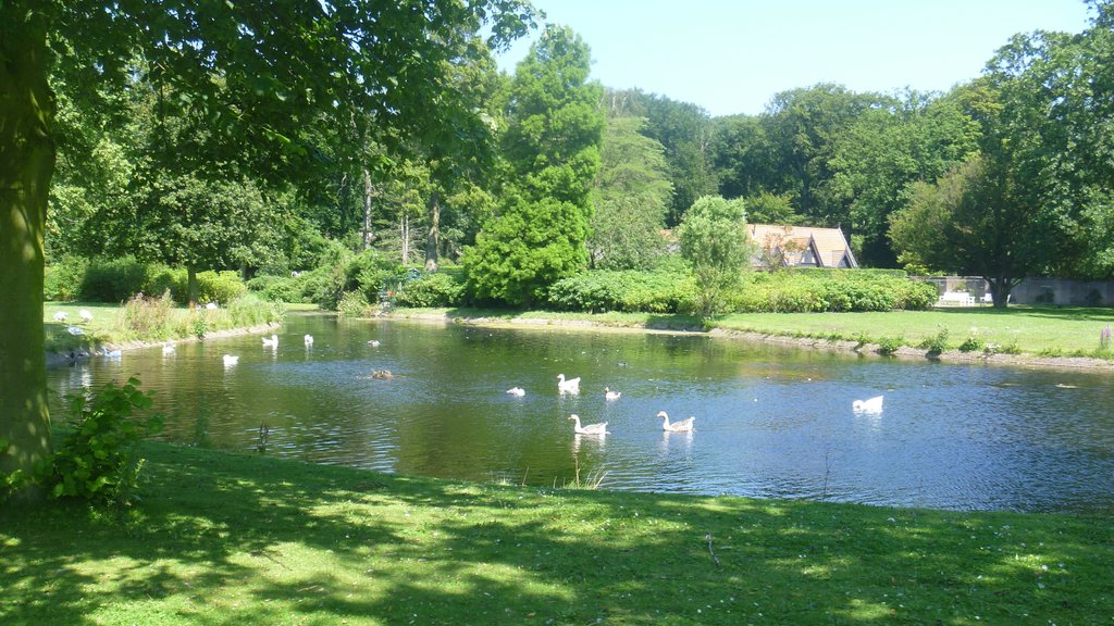
M 779 91 L 946 91 L 1018 32 L 1079 32 L 1083 0 L 535 0 L 592 47 L 592 77 L 704 107 L 759 114 Z M 537 40 L 498 57 L 514 72 Z

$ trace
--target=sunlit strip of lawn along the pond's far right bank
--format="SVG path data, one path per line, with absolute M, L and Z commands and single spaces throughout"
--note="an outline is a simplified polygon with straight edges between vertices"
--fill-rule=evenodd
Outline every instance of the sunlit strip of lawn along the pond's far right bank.
M 736 313 L 703 323 L 693 316 L 649 313 L 555 313 L 547 311 L 508 312 L 479 309 L 398 309 L 395 315 L 444 315 L 449 319 L 560 320 L 584 321 L 612 326 L 653 329 L 722 329 L 769 335 L 811 338 L 862 343 L 887 340 L 918 346 L 947 331 L 947 348 L 999 351 L 1045 356 L 1091 356 L 1114 359 L 1114 346 L 1102 349 L 1100 334 L 1114 325 L 1114 310 L 1084 307 L 1012 306 L 956 307 L 932 311 L 893 311 L 887 313 Z

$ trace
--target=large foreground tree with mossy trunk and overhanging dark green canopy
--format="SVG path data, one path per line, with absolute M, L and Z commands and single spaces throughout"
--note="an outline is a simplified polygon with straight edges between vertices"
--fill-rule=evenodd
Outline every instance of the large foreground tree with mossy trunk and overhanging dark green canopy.
M 0 472 L 29 469 L 50 450 L 42 277 L 52 62 L 86 84 L 121 85 L 138 53 L 156 81 L 202 102 L 212 126 L 261 146 L 267 158 L 254 165 L 277 174 L 305 153 L 296 129 L 321 114 L 363 110 L 395 137 L 452 125 L 468 110 L 443 80 L 442 62 L 459 50 L 446 42 L 485 22 L 502 42 L 531 19 L 525 0 L 9 0 L 0 10 Z M 68 63 L 74 53 L 97 62 Z

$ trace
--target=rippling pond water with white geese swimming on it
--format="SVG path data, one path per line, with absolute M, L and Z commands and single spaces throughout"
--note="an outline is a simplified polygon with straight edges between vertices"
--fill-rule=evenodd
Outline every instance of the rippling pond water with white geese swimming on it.
M 226 353 L 238 363 L 226 368 Z M 163 439 L 319 463 L 959 510 L 1114 508 L 1114 384 L 1101 372 L 314 314 L 289 316 L 276 349 L 213 339 L 48 376 L 65 394 L 131 374 L 157 391 Z M 580 393 L 559 394 L 558 374 L 582 378 Z M 605 400 L 605 387 L 622 397 Z M 852 411 L 880 394 L 881 413 Z M 696 431 L 664 432 L 663 410 L 695 415 Z M 574 434 L 573 413 L 610 434 Z

